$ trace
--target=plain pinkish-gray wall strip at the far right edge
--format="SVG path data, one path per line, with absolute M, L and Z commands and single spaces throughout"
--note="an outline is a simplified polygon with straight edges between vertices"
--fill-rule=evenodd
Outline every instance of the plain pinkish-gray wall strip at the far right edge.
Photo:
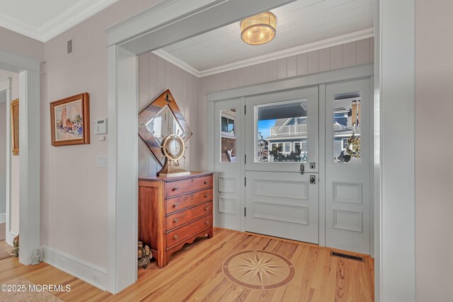
M 415 1 L 417 301 L 453 301 L 453 1 Z M 402 239 L 403 240 L 403 239 Z

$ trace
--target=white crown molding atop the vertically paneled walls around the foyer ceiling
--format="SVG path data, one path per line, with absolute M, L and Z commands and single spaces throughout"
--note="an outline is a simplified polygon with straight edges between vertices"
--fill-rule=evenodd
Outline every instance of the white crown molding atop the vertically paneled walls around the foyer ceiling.
M 369 37 L 374 37 L 373 28 L 369 28 L 366 30 L 360 30 L 355 33 L 349 33 L 346 35 L 340 35 L 338 37 L 332 37 L 330 39 L 321 40 L 318 42 L 313 42 L 313 43 L 309 43 L 309 44 L 301 45 L 301 46 L 297 46 L 297 47 L 292 47 L 287 50 L 281 50 L 279 52 L 264 54 L 259 57 L 245 59 L 245 60 L 242 60 L 239 62 L 234 62 L 231 64 L 217 66 L 217 67 L 214 67 L 211 69 L 205 69 L 205 70 L 201 70 L 201 71 L 198 69 L 195 69 L 193 66 L 190 66 L 189 64 L 183 62 L 183 60 L 178 59 L 177 57 L 173 56 L 172 54 L 169 54 L 165 50 L 155 50 L 153 53 L 156 54 L 157 56 L 161 57 L 162 59 L 165 59 L 166 61 L 170 62 L 171 64 L 178 66 L 180 69 L 188 71 L 190 74 L 193 74 L 194 76 L 197 76 L 198 78 L 202 78 L 203 76 L 210 76 L 212 74 L 220 74 L 224 71 L 231 71 L 231 70 L 239 69 L 239 68 L 246 67 L 246 66 L 252 66 L 252 65 L 256 65 L 256 64 L 260 64 L 260 63 L 264 63 L 264 62 L 270 62 L 270 61 L 273 61 L 276 59 L 292 57 L 297 54 L 304 54 L 306 52 L 313 52 L 316 50 L 322 50 L 324 48 L 342 45 L 342 44 L 346 44 L 349 42 L 364 40 Z

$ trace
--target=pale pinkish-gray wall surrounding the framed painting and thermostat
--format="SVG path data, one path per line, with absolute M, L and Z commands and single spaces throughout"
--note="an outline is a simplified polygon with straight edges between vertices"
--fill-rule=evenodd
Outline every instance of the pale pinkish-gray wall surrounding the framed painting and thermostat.
M 45 74 L 41 87 L 44 95 L 40 104 L 40 240 L 42 245 L 98 267 L 107 267 L 107 168 L 96 167 L 96 156 L 107 154 L 109 137 L 107 134 L 106 141 L 99 141 L 92 130 L 89 145 L 52 146 L 49 103 L 88 92 L 91 122 L 107 117 L 105 28 L 157 2 L 117 1 L 45 43 Z M 67 40 L 73 37 L 74 54 L 67 56 Z

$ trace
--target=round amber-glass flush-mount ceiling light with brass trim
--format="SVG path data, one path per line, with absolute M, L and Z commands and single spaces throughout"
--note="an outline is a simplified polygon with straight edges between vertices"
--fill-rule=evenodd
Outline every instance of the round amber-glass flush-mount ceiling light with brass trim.
M 277 19 L 270 11 L 241 21 L 241 39 L 250 45 L 261 45 L 273 40 L 277 33 Z

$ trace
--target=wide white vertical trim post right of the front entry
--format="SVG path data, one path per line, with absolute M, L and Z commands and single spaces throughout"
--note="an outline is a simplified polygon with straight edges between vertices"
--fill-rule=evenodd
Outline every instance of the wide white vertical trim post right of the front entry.
M 379 298 L 415 301 L 415 1 L 380 0 Z

